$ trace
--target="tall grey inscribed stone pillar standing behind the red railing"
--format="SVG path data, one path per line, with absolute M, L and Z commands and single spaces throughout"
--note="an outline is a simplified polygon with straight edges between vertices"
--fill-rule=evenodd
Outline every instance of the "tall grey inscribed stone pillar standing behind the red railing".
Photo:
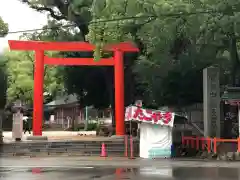
M 204 136 L 220 137 L 220 87 L 219 69 L 203 70 Z

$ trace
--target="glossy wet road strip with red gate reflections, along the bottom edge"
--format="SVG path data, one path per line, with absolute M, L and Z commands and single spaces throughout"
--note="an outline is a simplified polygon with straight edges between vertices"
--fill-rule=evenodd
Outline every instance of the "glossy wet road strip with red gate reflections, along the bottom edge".
M 240 167 L 240 166 L 239 166 Z M 108 167 L 44 167 L 0 168 L 4 180 L 240 180 L 240 168 L 181 167 L 181 168 L 108 168 Z

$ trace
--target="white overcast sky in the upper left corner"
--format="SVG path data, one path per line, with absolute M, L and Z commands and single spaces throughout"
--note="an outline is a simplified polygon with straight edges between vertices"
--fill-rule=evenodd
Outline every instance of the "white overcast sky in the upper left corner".
M 42 28 L 47 24 L 47 15 L 38 13 L 19 0 L 0 0 L 0 16 L 8 23 L 9 31 Z M 18 39 L 21 34 L 9 34 L 0 38 L 0 52 L 8 46 L 7 40 Z

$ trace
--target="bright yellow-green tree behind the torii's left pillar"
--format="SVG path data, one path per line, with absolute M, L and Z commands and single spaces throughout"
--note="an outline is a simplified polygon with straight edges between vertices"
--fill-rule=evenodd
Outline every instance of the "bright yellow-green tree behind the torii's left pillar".
M 53 53 L 48 53 L 49 56 Z M 31 104 L 33 101 L 33 75 L 34 57 L 33 52 L 5 52 L 8 75 L 7 98 L 9 102 L 21 99 Z M 56 67 L 45 66 L 44 68 L 44 92 L 54 96 L 64 90 L 62 77 L 57 74 Z

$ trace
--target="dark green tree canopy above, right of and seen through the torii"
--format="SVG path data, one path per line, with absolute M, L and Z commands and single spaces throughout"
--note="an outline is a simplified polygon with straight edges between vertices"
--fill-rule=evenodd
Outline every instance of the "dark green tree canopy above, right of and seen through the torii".
M 52 28 L 33 39 L 88 41 L 97 46 L 97 56 L 104 44 L 134 42 L 140 53 L 125 56 L 126 104 L 135 99 L 149 106 L 201 102 L 202 69 L 209 65 L 221 68 L 222 85 L 239 85 L 240 0 L 22 1 L 51 17 Z M 70 26 L 63 27 L 63 20 Z M 61 73 L 66 89 L 82 101 L 114 104 L 112 69 L 66 67 Z

